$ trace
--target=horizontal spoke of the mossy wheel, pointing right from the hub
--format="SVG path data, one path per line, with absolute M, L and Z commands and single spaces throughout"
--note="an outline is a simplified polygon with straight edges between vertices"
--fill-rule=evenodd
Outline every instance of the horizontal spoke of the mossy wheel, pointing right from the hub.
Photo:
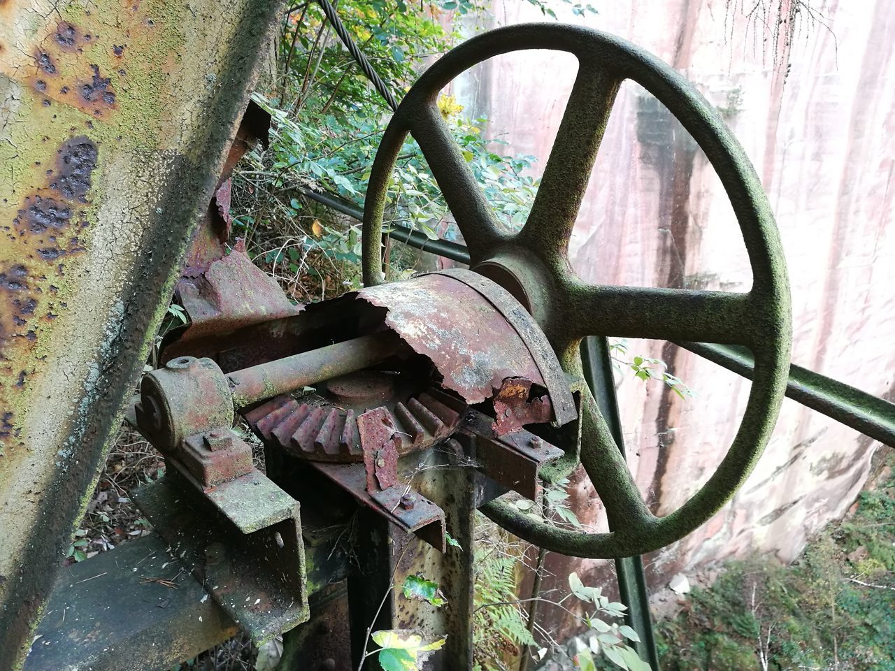
M 772 328 L 748 293 L 578 284 L 570 296 L 575 336 L 753 345 Z

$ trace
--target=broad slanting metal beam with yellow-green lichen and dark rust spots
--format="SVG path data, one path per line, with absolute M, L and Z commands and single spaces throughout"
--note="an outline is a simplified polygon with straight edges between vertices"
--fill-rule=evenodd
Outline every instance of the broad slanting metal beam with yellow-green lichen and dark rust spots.
M 30 644 L 278 6 L 0 3 L 0 667 Z

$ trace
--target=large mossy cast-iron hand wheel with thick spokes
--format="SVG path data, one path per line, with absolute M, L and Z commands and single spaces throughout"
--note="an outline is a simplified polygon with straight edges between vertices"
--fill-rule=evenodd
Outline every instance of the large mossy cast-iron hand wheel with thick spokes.
M 519 233 L 509 234 L 501 230 L 475 182 L 436 99 L 449 81 L 474 64 L 522 49 L 566 51 L 577 57 L 579 67 L 531 214 Z M 678 117 L 720 175 L 752 266 L 749 293 L 590 285 L 569 266 L 569 236 L 613 100 L 626 79 L 638 82 Z M 791 336 L 788 279 L 771 207 L 720 116 L 668 65 L 606 33 L 545 23 L 479 35 L 422 75 L 383 135 L 364 203 L 367 285 L 382 281 L 380 239 L 388 180 L 407 132 L 420 144 L 456 218 L 472 268 L 503 285 L 532 312 L 567 373 L 581 377 L 578 345 L 585 335 L 742 344 L 754 352 L 752 390 L 737 436 L 717 471 L 675 512 L 656 517 L 648 510 L 586 388 L 575 450 L 579 454 L 572 456 L 584 465 L 613 531 L 558 528 L 500 500 L 483 512 L 523 539 L 572 556 L 633 556 L 694 531 L 743 484 L 771 435 L 786 384 Z

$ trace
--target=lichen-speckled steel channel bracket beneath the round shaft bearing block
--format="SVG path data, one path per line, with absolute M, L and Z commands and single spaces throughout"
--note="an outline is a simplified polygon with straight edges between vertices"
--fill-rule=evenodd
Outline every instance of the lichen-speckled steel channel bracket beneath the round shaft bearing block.
M 207 489 L 174 458 L 134 495 L 193 575 L 256 645 L 309 616 L 299 504 L 260 471 Z

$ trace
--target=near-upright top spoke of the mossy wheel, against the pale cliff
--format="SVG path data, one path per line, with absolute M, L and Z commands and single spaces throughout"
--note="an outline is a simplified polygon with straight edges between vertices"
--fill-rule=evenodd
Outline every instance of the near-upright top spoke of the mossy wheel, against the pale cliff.
M 541 254 L 563 257 L 590 181 L 621 80 L 581 62 L 575 87 L 520 240 Z

